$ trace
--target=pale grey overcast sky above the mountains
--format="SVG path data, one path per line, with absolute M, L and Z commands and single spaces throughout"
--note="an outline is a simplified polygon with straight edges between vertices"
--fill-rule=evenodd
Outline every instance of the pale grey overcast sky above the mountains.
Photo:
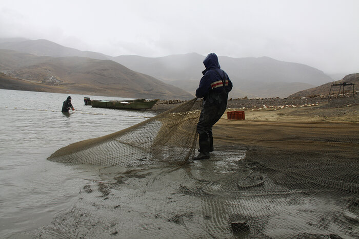
M 1 0 L 0 38 L 111 56 L 196 52 L 359 72 L 359 0 Z

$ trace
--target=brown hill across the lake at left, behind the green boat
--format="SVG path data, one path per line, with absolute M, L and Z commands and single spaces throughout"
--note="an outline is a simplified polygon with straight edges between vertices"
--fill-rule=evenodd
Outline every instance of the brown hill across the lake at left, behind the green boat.
M 191 99 L 188 92 L 151 76 L 134 72 L 112 60 L 85 57 L 45 57 L 0 50 L 0 70 L 12 78 L 22 79 L 22 89 L 35 84 L 37 91 L 72 94 L 118 96 L 150 99 Z M 13 89 L 15 80 L 0 85 Z

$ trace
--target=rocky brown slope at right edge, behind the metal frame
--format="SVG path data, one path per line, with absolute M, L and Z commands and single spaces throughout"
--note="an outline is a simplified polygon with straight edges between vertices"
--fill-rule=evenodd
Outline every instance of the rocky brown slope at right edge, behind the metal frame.
M 328 95 L 331 85 L 333 83 L 353 83 L 354 84 L 354 92 L 355 91 L 359 91 L 359 73 L 355 73 L 355 74 L 349 74 L 347 76 L 345 76 L 343 79 L 338 80 L 338 81 L 333 81 L 333 82 L 329 82 L 326 84 L 322 84 L 320 86 L 316 86 L 314 88 L 310 88 L 304 91 L 300 91 L 300 92 L 296 92 L 292 95 L 290 95 L 289 97 L 294 98 L 294 97 L 308 97 L 308 96 L 318 96 L 318 95 Z M 331 93 L 338 93 L 339 88 L 334 88 L 332 89 Z M 343 90 L 343 88 L 342 88 Z M 341 92 L 342 92 L 341 90 Z M 353 91 L 353 88 L 351 85 L 345 86 L 345 92 L 349 92 L 351 93 Z

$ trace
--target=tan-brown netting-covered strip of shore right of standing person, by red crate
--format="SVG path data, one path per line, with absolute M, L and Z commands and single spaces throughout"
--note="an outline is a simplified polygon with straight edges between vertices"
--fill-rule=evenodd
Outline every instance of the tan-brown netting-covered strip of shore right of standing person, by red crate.
M 213 127 L 218 144 L 298 149 L 312 148 L 313 140 L 335 136 L 347 137 L 352 142 L 359 140 L 359 105 L 355 100 L 281 107 L 245 110 L 245 120 L 228 120 L 225 113 Z M 228 111 L 233 110 L 241 108 Z M 322 143 L 320 147 L 329 149 L 333 145 Z

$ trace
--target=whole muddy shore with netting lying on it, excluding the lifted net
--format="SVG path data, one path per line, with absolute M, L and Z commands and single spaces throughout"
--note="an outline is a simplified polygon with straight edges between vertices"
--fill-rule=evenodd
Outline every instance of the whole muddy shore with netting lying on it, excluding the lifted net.
M 272 108 L 258 100 L 245 110 L 245 120 L 228 120 L 225 114 L 214 125 L 209 160 L 173 167 L 104 167 L 99 180 L 79 189 L 71 208 L 25 234 L 356 238 L 359 106 L 349 100 L 303 107 L 277 101 Z M 244 102 L 229 105 L 236 110 Z

